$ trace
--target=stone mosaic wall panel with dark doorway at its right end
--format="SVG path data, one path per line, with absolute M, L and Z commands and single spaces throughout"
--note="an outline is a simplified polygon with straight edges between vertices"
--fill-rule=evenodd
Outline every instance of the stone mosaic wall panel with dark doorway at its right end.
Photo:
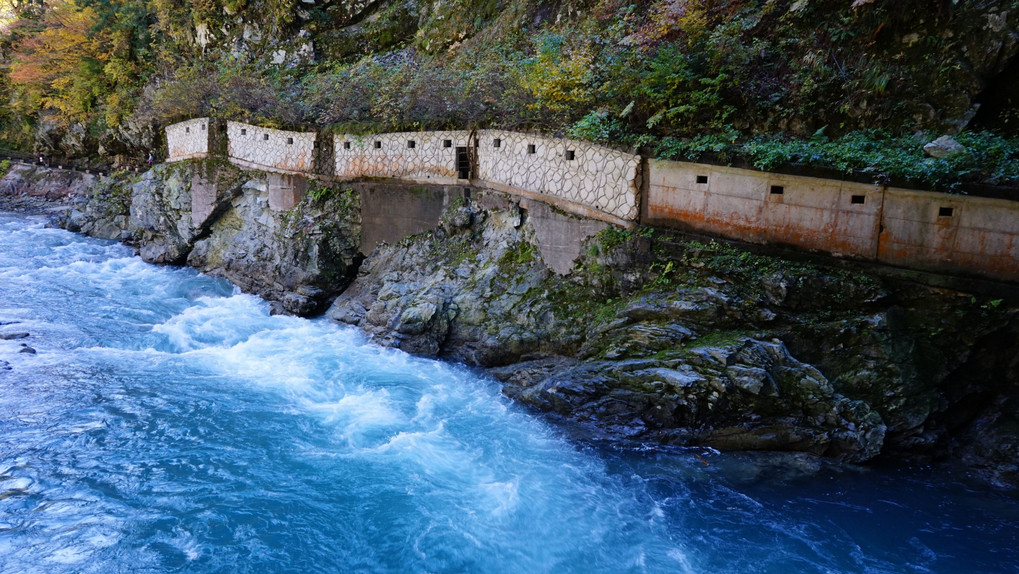
M 470 148 L 470 132 L 415 132 L 333 139 L 340 179 L 392 177 L 426 184 L 454 184 L 462 173 L 457 148 Z M 469 179 L 471 173 L 466 173 Z

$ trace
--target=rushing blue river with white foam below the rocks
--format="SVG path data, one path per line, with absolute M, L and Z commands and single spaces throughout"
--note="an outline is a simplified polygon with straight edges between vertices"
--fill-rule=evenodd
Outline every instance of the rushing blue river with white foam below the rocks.
M 32 334 L 0 341 L 0 572 L 1019 566 L 1014 499 L 584 447 L 469 369 L 37 219 L 0 214 L 0 322 Z

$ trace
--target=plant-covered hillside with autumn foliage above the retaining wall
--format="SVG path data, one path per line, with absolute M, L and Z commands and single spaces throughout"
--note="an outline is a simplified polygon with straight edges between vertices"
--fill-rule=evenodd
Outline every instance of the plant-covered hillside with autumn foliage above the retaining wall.
M 158 150 L 163 125 L 211 115 L 504 127 L 935 189 L 1019 186 L 1019 0 L 3 5 L 12 150 L 128 163 Z M 943 136 L 959 146 L 924 152 Z

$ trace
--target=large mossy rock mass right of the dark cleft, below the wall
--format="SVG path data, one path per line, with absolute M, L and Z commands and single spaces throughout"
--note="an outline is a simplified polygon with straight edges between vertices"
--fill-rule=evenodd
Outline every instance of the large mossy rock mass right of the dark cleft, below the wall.
M 450 213 L 458 225 L 373 252 L 328 315 L 487 367 L 585 436 L 934 457 L 966 401 L 1019 386 L 1005 353 L 973 370 L 991 333 L 1019 350 L 1015 307 L 611 230 L 560 276 L 518 210 Z

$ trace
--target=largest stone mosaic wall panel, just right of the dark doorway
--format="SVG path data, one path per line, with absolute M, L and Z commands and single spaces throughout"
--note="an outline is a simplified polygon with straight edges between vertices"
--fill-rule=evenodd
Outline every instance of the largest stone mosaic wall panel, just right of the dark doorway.
M 478 133 L 478 178 L 636 221 L 640 157 L 573 140 Z

